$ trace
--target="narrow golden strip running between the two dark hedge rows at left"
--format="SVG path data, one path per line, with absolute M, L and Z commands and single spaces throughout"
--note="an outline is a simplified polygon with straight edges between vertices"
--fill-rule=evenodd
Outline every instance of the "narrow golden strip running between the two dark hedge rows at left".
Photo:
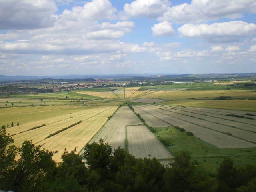
M 12 136 L 12 138 L 14 139 L 14 143 L 16 146 L 21 146 L 21 144 L 24 140 L 33 140 L 33 143 L 37 143 L 37 142 L 44 140 L 46 138 L 46 136 L 48 136 L 51 133 L 54 133 L 54 132 L 56 132 L 62 128 L 65 128 L 71 124 L 74 124 L 80 120 L 86 121 L 89 118 L 92 118 L 93 116 L 98 115 L 110 108 L 111 107 L 109 107 L 109 106 L 101 107 L 101 108 L 98 108 L 97 110 L 91 111 L 89 113 L 87 112 L 86 114 L 81 113 L 80 115 L 74 116 L 72 118 L 68 118 L 68 119 L 60 120 L 60 121 L 57 120 L 56 122 L 48 124 L 46 126 L 14 135 L 14 136 Z M 117 108 L 117 106 L 116 106 L 116 108 Z

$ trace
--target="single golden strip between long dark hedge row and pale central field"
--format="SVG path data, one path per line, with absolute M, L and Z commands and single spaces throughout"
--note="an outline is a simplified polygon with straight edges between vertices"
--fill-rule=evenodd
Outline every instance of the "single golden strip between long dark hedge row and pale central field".
M 77 147 L 77 151 L 82 150 L 84 145 L 98 132 L 102 125 L 106 122 L 108 116 L 114 113 L 117 107 L 111 107 L 82 123 L 69 128 L 55 136 L 39 142 L 44 144 L 44 148 L 48 150 L 58 150 L 58 154 L 54 155 L 54 160 L 59 162 L 64 148 L 69 152 Z

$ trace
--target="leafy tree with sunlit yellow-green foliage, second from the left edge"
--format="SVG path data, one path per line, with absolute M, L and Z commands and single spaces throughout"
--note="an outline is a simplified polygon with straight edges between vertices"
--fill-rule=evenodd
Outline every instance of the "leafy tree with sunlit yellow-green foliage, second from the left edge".
M 52 156 L 53 151 L 40 149 L 42 145 L 35 146 L 32 141 L 24 141 L 18 149 L 19 159 L 12 172 L 10 184 L 16 192 L 39 191 L 56 166 Z

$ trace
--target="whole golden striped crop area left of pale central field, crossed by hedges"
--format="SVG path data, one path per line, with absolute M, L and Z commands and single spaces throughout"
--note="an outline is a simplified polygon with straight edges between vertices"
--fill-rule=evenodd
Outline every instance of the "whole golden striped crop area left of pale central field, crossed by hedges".
M 0 118 L 5 120 L 2 122 L 9 120 L 15 123 L 19 122 L 18 126 L 14 124 L 14 127 L 6 128 L 7 132 L 12 135 L 16 146 L 21 146 L 24 140 L 32 140 L 35 144 L 44 144 L 44 148 L 48 150 L 59 151 L 54 155 L 54 160 L 60 161 L 64 148 L 73 150 L 74 147 L 77 147 L 78 150 L 82 150 L 117 107 L 117 105 L 58 105 L 2 108 L 0 109 Z M 82 122 L 46 139 L 50 134 L 78 121 Z M 41 126 L 43 124 L 44 126 Z

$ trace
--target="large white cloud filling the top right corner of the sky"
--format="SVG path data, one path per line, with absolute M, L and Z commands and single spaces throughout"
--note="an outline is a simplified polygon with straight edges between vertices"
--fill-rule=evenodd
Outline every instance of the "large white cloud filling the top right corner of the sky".
M 244 12 L 256 13 L 255 0 L 192 0 L 191 4 L 168 7 L 159 21 L 199 23 L 219 18 L 240 18 Z

